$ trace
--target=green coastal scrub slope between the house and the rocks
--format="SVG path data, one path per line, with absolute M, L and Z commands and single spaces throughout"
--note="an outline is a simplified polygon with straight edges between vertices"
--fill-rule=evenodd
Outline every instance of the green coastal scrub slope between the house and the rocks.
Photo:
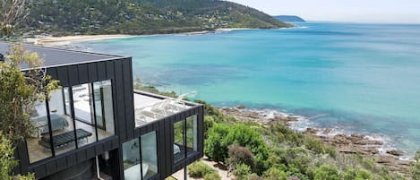
M 242 123 L 205 101 L 196 102 L 205 107 L 204 128 L 208 132 L 204 154 L 228 166 L 236 179 L 406 179 L 377 165 L 373 159 L 338 153 L 334 147 L 295 133 L 283 124 Z M 412 164 L 411 175 L 410 179 L 419 179 L 420 152 Z

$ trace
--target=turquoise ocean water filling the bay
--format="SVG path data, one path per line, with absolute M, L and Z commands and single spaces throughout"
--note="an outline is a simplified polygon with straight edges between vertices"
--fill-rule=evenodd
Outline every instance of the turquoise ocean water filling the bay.
M 133 74 L 219 107 L 243 104 L 309 117 L 310 125 L 370 133 L 420 148 L 420 25 L 305 22 L 82 42 L 133 56 Z

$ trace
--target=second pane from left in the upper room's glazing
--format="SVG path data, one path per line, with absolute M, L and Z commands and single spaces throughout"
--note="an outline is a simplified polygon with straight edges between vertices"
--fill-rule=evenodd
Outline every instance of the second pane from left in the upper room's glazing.
M 65 95 L 67 93 L 67 95 Z M 66 115 L 64 97 L 68 91 L 55 90 L 51 93 L 49 103 L 49 115 L 51 117 L 51 131 L 53 133 L 54 148 L 56 155 L 75 149 L 74 128 L 72 116 Z M 49 148 L 49 138 L 44 138 L 39 144 Z

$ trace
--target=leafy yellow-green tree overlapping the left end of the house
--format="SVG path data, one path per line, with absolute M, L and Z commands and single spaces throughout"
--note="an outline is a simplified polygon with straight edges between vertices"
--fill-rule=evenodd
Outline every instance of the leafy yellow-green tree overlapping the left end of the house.
M 58 88 L 58 81 L 40 68 L 42 63 L 36 53 L 25 51 L 19 44 L 13 45 L 6 61 L 0 62 L 0 131 L 14 147 L 35 133 L 30 121 L 35 103 Z M 21 64 L 27 64 L 29 70 L 21 72 Z

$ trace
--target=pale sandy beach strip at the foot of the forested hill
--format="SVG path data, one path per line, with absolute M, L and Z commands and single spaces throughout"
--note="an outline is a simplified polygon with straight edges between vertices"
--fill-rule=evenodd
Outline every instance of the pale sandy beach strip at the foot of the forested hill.
M 165 36 L 165 35 L 202 35 L 216 32 L 229 32 L 234 30 L 257 30 L 247 28 L 226 28 L 216 30 L 201 30 L 192 32 L 182 32 L 175 34 L 151 34 L 151 35 L 127 35 L 127 34 L 108 34 L 108 35 L 74 35 L 74 36 L 63 36 L 63 37 L 52 37 L 52 36 L 39 36 L 35 38 L 23 39 L 24 42 L 47 47 L 63 47 L 71 44 L 72 42 L 83 42 L 83 41 L 94 41 L 104 39 L 126 39 L 134 37 L 153 37 L 153 36 Z

